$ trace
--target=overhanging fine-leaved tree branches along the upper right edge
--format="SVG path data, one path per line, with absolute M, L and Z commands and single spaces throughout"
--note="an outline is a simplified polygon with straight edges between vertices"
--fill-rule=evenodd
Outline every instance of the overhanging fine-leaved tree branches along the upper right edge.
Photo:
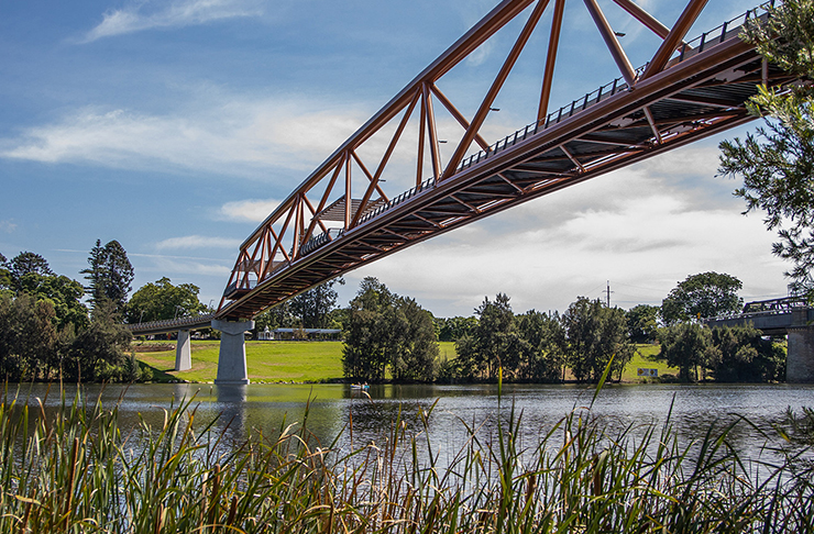
M 746 41 L 770 63 L 795 77 L 814 77 L 814 2 L 785 0 L 769 8 L 766 20 L 752 20 Z M 769 230 L 780 241 L 772 252 L 792 263 L 785 275 L 794 293 L 814 291 L 814 88 L 810 84 L 767 88 L 747 103 L 765 119 L 745 141 L 721 143 L 718 174 L 743 178 L 735 191 L 746 201 L 746 213 L 762 210 Z

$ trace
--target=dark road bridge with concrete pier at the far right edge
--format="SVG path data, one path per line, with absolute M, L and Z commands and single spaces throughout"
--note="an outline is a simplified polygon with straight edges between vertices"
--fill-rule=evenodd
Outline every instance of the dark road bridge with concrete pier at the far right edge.
M 708 319 L 710 327 L 751 324 L 766 335 L 788 336 L 787 382 L 814 382 L 814 308 L 799 298 L 749 302 L 738 315 Z

